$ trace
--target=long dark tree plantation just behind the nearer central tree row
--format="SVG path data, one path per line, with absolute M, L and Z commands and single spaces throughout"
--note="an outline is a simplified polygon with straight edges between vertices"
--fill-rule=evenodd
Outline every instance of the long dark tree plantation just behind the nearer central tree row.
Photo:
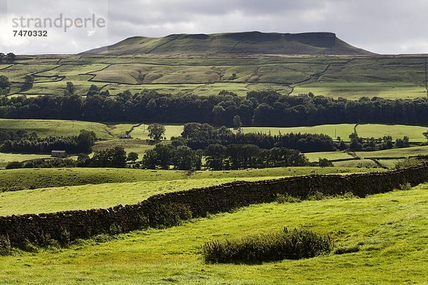
M 260 148 L 286 147 L 301 152 L 322 152 L 336 149 L 328 135 L 288 133 L 270 135 L 264 133 L 233 133 L 224 126 L 214 128 L 206 123 L 187 123 L 181 138 L 194 150 L 205 149 L 208 145 L 257 145 Z M 180 140 L 180 138 L 179 138 Z

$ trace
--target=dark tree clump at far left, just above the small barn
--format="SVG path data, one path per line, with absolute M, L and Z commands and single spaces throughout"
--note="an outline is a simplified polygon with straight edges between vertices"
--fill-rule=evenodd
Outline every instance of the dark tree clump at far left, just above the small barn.
M 18 132 L 21 132 L 22 136 L 17 135 Z M 29 135 L 24 131 L 2 131 L 1 134 L 5 137 L 9 135 L 0 146 L 1 152 L 50 153 L 52 150 L 66 150 L 71 153 L 89 153 L 96 142 L 95 133 L 87 130 L 81 130 L 79 135 L 69 137 L 38 138 L 35 133 Z

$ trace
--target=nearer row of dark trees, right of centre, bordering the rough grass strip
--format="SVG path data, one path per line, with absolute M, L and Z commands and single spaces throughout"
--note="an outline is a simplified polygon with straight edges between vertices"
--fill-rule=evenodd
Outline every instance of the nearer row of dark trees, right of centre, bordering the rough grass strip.
M 212 170 L 242 170 L 249 167 L 305 166 L 309 161 L 298 150 L 285 147 L 260 149 L 257 145 L 208 145 L 207 166 Z

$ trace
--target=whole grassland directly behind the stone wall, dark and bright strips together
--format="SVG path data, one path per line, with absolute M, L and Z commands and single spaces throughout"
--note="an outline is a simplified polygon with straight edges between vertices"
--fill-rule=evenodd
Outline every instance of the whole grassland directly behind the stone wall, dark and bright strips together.
M 292 175 L 347 174 L 366 171 L 358 168 L 290 167 L 290 169 L 270 168 L 250 172 L 246 170 L 199 171 L 189 176 L 182 171 L 168 170 L 78 168 L 51 171 L 46 169 L 3 170 L 0 171 L 0 181 L 3 185 L 15 187 L 34 185 L 33 188 L 41 189 L 0 193 L 0 215 L 135 204 L 157 193 L 188 190 L 193 187 L 218 185 L 235 180 L 265 180 Z M 58 187 L 53 187 L 54 185 Z M 51 188 L 45 188 L 49 186 Z

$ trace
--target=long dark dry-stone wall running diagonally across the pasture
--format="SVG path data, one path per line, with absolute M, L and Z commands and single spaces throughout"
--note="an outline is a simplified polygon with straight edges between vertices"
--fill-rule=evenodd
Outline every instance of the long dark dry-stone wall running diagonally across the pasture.
M 61 241 L 108 233 L 112 225 L 123 232 L 158 225 L 156 221 L 168 207 L 183 205 L 193 217 L 225 212 L 250 204 L 275 201 L 277 194 L 305 199 L 314 192 L 340 195 L 352 192 L 359 197 L 388 192 L 400 185 L 412 186 L 428 181 L 428 164 L 389 172 L 352 175 L 308 175 L 256 182 L 230 182 L 223 185 L 153 195 L 139 204 L 108 209 L 89 209 L 49 214 L 24 214 L 0 217 L 0 235 L 9 237 L 14 245 L 26 240 L 38 242 L 46 234 Z M 168 205 L 168 207 L 162 207 Z

